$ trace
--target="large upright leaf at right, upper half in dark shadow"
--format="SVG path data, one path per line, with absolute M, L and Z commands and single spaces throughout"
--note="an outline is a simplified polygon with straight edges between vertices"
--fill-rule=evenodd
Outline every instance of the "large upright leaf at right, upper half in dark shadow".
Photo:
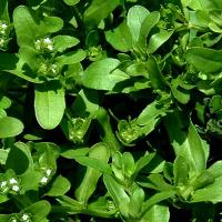
M 182 115 L 179 111 L 168 114 L 165 127 L 176 157 L 186 159 L 192 173 L 205 170 L 209 145 L 200 138 L 188 117 Z

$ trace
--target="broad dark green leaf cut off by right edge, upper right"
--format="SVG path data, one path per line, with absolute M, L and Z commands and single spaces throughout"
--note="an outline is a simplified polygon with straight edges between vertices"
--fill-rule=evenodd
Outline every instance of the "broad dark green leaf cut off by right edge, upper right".
M 206 48 L 191 48 L 186 51 L 186 60 L 198 71 L 220 72 L 222 70 L 222 51 Z

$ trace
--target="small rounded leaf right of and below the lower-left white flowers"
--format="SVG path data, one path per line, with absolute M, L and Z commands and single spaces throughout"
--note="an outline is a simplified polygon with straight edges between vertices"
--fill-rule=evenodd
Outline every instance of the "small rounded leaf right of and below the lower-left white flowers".
M 71 188 L 71 183 L 68 179 L 59 175 L 52 183 L 51 189 L 46 193 L 49 196 L 59 196 L 65 194 Z

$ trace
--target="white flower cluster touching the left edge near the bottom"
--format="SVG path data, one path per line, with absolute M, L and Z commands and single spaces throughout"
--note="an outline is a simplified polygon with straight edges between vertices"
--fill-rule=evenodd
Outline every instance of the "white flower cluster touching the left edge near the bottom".
M 0 193 L 7 194 L 9 192 L 19 193 L 21 190 L 18 179 L 11 178 L 0 182 Z

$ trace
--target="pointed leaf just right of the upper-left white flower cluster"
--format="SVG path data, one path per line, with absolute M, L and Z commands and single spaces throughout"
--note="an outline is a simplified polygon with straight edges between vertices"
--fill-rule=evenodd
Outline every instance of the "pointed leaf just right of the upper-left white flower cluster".
M 54 42 L 54 48 L 59 51 L 59 52 L 63 52 L 64 50 L 75 47 L 80 40 L 74 38 L 74 37 L 70 37 L 70 36 L 56 36 L 53 39 Z

